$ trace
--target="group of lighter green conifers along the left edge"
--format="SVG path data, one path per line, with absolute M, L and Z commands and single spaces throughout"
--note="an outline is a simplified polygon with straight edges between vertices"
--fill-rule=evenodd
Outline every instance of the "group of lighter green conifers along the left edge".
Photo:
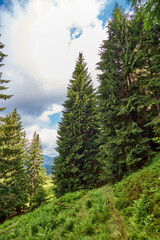
M 2 48 L 2 45 L 0 46 Z M 1 61 L 3 54 L 0 52 Z M 0 80 L 1 90 L 5 89 Z M 10 96 L 1 95 L 3 99 Z M 1 109 L 4 110 L 4 109 Z M 45 169 L 42 167 L 42 145 L 38 133 L 29 142 L 15 108 L 0 120 L 0 219 L 20 213 L 29 203 L 34 207 L 36 196 L 44 191 Z

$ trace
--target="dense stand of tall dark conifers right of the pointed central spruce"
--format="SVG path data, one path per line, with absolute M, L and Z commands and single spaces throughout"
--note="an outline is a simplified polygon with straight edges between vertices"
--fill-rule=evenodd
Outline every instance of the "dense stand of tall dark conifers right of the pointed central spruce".
M 107 29 L 98 63 L 99 158 L 104 180 L 115 181 L 141 168 L 158 151 L 160 27 L 144 31 L 141 16 L 127 16 L 116 5 Z

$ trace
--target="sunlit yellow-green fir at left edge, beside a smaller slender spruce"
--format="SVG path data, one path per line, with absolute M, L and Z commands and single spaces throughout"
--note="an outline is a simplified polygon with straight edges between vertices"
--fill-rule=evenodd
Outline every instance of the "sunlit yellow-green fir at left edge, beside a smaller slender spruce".
M 3 119 L 1 135 L 0 218 L 3 218 L 13 210 L 19 213 L 26 203 L 25 133 L 16 109 Z

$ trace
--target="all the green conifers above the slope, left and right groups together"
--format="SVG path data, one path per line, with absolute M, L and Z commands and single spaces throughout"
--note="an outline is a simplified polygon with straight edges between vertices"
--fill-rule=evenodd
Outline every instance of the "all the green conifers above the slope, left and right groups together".
M 57 196 L 91 189 L 150 164 L 160 149 L 160 26 L 145 8 L 133 13 L 117 4 L 97 63 L 99 87 L 79 53 L 59 123 L 53 181 Z M 148 17 L 151 18 L 151 13 Z M 6 56 L 0 43 L 0 67 Z M 7 80 L 0 74 L 0 91 Z M 0 94 L 0 99 L 10 95 Z M 1 111 L 4 108 L 0 108 Z M 29 143 L 17 109 L 0 119 L 0 218 L 44 198 L 42 145 Z

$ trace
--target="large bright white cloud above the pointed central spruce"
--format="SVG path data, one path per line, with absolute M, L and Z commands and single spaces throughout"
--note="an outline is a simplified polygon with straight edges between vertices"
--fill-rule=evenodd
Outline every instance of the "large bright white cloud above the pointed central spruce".
M 86 56 L 88 49 L 88 61 L 92 60 L 105 37 L 105 30 L 97 19 L 103 1 L 58 2 L 57 7 L 52 0 L 32 0 L 25 12 L 15 4 L 14 17 L 5 13 L 6 21 L 3 23 L 2 19 L 12 64 L 29 73 L 44 91 L 66 88 L 79 50 Z M 91 24 L 95 27 L 90 27 Z M 74 40 L 74 45 L 69 45 L 70 28 L 74 25 L 81 28 L 83 34 L 79 41 Z

